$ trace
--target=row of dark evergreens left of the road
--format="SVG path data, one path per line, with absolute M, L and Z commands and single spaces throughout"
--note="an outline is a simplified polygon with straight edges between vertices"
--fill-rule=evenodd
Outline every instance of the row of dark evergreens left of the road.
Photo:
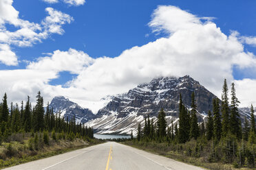
M 25 106 L 24 106 L 25 105 Z M 3 96 L 3 102 L 0 104 L 0 143 L 8 140 L 8 136 L 13 133 L 25 132 L 53 132 L 63 134 L 67 138 L 76 136 L 93 138 L 92 127 L 87 127 L 81 123 L 76 123 L 75 117 L 72 120 L 65 120 L 61 117 L 61 112 L 54 114 L 54 108 L 50 108 L 49 102 L 46 109 L 43 107 L 43 97 L 41 93 L 36 95 L 36 105 L 32 107 L 30 97 L 25 104 L 21 101 L 21 107 L 18 104 L 10 104 L 6 93 Z M 46 137 L 45 137 L 46 138 Z

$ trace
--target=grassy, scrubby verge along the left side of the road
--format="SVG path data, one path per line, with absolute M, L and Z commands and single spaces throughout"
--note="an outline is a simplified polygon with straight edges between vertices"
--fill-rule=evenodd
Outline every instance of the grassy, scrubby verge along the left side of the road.
M 30 134 L 15 135 L 16 137 L 19 136 L 19 140 L 1 143 L 0 145 L 0 169 L 103 143 L 103 141 L 95 138 L 54 140 L 50 137 L 49 145 L 45 145 L 39 140 L 39 143 L 36 144 L 38 146 L 35 147 L 34 143 L 31 144 L 30 142 L 32 138 Z

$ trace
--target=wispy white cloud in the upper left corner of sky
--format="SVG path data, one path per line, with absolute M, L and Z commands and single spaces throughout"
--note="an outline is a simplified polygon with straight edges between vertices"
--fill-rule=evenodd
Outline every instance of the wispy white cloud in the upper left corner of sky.
M 19 18 L 19 12 L 13 8 L 12 3 L 12 0 L 0 1 L 0 45 L 3 64 L 17 65 L 17 56 L 10 51 L 10 45 L 30 47 L 51 34 L 63 34 L 62 25 L 74 20 L 68 14 L 46 8 L 48 16 L 41 23 L 30 23 Z M 6 29 L 6 24 L 14 25 L 17 30 L 10 32 Z

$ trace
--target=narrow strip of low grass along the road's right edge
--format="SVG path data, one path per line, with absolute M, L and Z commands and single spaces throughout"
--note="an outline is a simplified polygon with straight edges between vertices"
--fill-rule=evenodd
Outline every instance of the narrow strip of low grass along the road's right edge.
M 171 151 L 166 145 L 159 145 L 156 143 L 134 143 L 133 141 L 125 141 L 122 144 L 141 149 L 143 151 L 148 151 L 151 154 L 158 154 L 160 156 L 165 156 L 173 160 L 178 160 L 180 162 L 185 162 L 190 165 L 195 165 L 202 167 L 204 169 L 213 169 L 213 170 L 251 170 L 246 167 L 235 168 L 234 165 L 223 164 L 222 162 L 208 162 L 206 158 L 200 157 L 195 158 L 192 156 L 186 156 L 185 154 L 180 154 L 177 151 Z

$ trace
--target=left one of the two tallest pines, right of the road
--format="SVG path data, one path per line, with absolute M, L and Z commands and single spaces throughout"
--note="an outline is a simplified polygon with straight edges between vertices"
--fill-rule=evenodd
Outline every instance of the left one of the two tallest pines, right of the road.
M 228 86 L 225 79 L 222 88 L 222 136 L 226 136 L 229 130 Z

